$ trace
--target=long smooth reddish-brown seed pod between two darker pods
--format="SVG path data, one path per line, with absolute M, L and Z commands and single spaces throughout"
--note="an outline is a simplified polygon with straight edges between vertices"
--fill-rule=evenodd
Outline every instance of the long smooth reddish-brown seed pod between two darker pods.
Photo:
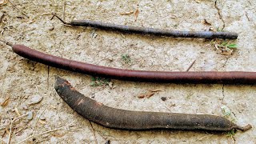
M 191 72 L 164 72 L 146 70 L 122 70 L 106 66 L 97 66 L 84 62 L 76 62 L 44 54 L 23 45 L 12 46 L 14 52 L 34 62 L 47 66 L 54 66 L 64 70 L 138 82 L 172 82 L 172 83 L 229 83 L 229 84 L 255 84 L 256 72 L 216 72 L 216 71 L 191 71 Z

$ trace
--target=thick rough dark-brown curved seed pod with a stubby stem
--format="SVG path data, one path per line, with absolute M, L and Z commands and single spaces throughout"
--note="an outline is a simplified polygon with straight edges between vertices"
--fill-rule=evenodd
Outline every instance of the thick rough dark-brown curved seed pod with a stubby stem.
M 250 130 L 252 126 L 237 126 L 226 118 L 208 114 L 178 114 L 120 110 L 104 106 L 85 97 L 65 79 L 56 77 L 55 90 L 78 114 L 91 122 L 121 130 Z

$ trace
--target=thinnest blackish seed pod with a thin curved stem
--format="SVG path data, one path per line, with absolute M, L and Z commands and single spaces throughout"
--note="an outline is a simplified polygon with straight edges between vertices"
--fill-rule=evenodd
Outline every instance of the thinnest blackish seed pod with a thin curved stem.
M 59 18 L 58 15 L 56 14 L 53 14 L 53 15 L 66 25 L 90 26 L 90 27 L 95 27 L 102 30 L 117 30 L 125 33 L 153 34 L 153 35 L 174 37 L 174 38 L 207 38 L 207 39 L 214 39 L 214 38 L 237 39 L 238 38 L 238 34 L 233 32 L 161 30 L 161 29 L 153 29 L 153 28 L 116 25 L 113 23 L 94 22 L 90 20 L 74 20 L 71 22 L 65 22 L 62 20 L 62 18 Z

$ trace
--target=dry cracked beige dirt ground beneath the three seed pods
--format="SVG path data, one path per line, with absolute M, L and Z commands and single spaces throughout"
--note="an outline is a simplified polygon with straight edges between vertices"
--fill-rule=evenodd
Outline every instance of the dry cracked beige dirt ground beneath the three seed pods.
M 0 6 L 1 39 L 47 54 L 130 70 L 184 71 L 196 60 L 190 71 L 256 71 L 256 1 L 253 0 L 5 2 Z M 164 38 L 64 26 L 57 18 L 52 19 L 52 12 L 67 22 L 90 19 L 167 30 L 222 30 L 224 27 L 239 34 L 236 41 L 227 41 L 236 43 L 238 50 L 225 55 L 217 49 L 216 43 L 222 40 Z M 2 42 L 0 47 L 1 143 L 256 143 L 255 86 L 114 79 L 99 82 L 89 75 L 22 58 Z M 89 122 L 63 102 L 54 90 L 54 75 L 66 78 L 82 94 L 106 106 L 215 114 L 241 126 L 250 123 L 253 128 L 244 133 L 224 134 L 112 130 Z M 149 90 L 161 91 L 150 98 L 138 98 Z M 13 122 L 15 118 L 18 119 Z

